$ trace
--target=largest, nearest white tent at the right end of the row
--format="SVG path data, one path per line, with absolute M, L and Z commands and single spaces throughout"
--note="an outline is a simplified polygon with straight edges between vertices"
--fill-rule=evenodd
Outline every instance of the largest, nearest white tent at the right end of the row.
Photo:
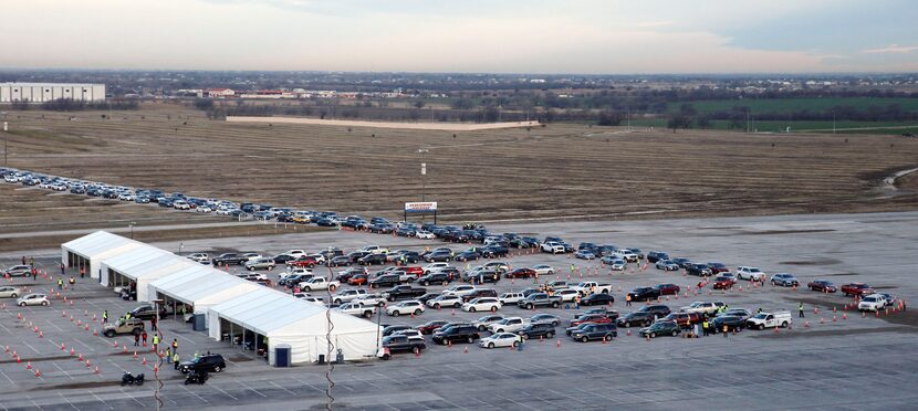
M 332 347 L 326 339 L 326 314 L 333 325 Z M 230 327 L 233 333 L 244 328 L 268 337 L 270 365 L 275 362 L 279 344 L 290 345 L 292 363 L 314 362 L 320 355 L 333 359 L 338 349 L 345 359 L 358 360 L 375 356 L 378 348 L 376 324 L 263 287 L 210 307 L 208 323 L 213 339 L 229 334 Z

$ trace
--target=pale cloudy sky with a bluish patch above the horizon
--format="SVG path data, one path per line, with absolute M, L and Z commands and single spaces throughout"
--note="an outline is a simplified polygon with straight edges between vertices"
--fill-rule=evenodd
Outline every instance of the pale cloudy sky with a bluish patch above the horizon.
M 914 0 L 0 0 L 3 68 L 918 72 Z

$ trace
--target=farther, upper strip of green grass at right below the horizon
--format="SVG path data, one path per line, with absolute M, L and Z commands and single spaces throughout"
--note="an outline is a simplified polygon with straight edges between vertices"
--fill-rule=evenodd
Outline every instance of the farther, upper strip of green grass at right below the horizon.
M 906 112 L 918 110 L 918 98 L 873 98 L 873 97 L 826 97 L 826 98 L 742 98 L 711 99 L 685 103 L 670 103 L 669 112 L 678 112 L 682 104 L 691 104 L 699 114 L 729 112 L 733 107 L 745 106 L 752 113 L 793 113 L 804 109 L 824 112 L 835 106 L 853 106 L 858 109 L 868 106 L 886 107 L 898 104 Z

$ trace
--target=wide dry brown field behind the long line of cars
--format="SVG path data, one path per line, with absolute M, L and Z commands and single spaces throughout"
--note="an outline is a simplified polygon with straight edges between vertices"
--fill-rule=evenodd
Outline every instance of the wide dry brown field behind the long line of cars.
M 103 114 L 81 112 L 72 120 L 61 113 L 8 114 L 9 165 L 194 196 L 400 218 L 404 201 L 420 199 L 417 150 L 424 147 L 426 199 L 438 201 L 440 217 L 450 222 L 918 209 L 914 185 L 891 193 L 877 189 L 884 177 L 918 167 L 918 140 L 895 136 L 625 133 L 553 124 L 453 137 L 228 124 L 167 105 L 116 112 L 115 119 Z M 0 231 L 136 218 L 213 221 L 133 204 L 103 214 L 96 205 L 84 208 L 84 197 L 15 192 L 24 197 L 12 200 L 2 191 Z

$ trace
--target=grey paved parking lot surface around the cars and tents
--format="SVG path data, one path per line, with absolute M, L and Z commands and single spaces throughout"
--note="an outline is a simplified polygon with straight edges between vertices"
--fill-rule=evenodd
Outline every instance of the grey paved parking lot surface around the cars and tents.
M 918 266 L 918 213 L 791 215 L 766 218 L 722 218 L 665 220 L 649 222 L 576 222 L 489 226 L 492 231 L 513 231 L 561 235 L 577 243 L 592 241 L 641 250 L 668 251 L 672 256 L 693 261 L 721 261 L 731 267 L 757 265 L 766 273 L 791 272 L 801 282 L 826 278 L 837 285 L 864 281 L 906 301 L 918 295 L 914 267 Z M 352 250 L 379 244 L 389 247 L 425 244 L 419 240 L 363 233 L 320 232 L 255 239 L 196 240 L 181 244 L 182 252 L 241 250 L 265 254 L 288 249 L 319 250 L 337 245 Z M 178 243 L 155 244 L 178 251 Z M 54 264 L 53 254 L 39 257 Z M 15 254 L 4 254 L 0 265 L 15 263 Z M 612 282 L 614 308 L 626 313 L 624 293 L 638 285 L 672 282 L 684 289 L 697 277 L 665 273 L 648 267 L 609 274 L 598 262 L 567 256 L 523 254 L 507 260 L 513 266 L 547 263 L 559 268 L 559 278 L 578 281 L 581 276 Z M 575 265 L 573 273 L 571 264 Z M 53 272 L 52 272 L 53 274 Z M 274 273 L 277 274 L 277 273 Z M 542 280 L 542 278 L 540 278 Z M 551 280 L 554 280 L 552 277 Z M 49 291 L 53 278 L 13 280 L 33 289 Z M 778 334 L 742 331 L 700 339 L 657 338 L 650 341 L 625 335 L 609 342 L 573 342 L 560 338 L 530 341 L 522 351 L 486 350 L 477 345 L 435 346 L 419 357 L 398 355 L 392 361 L 355 362 L 336 366 L 333 372 L 335 403 L 354 409 L 609 409 L 616 405 L 640 409 L 749 408 L 789 409 L 805 403 L 815 409 L 904 409 L 916 400 L 908 390 L 918 371 L 912 355 L 918 341 L 918 318 L 912 312 L 890 316 L 862 317 L 845 313 L 851 301 L 841 295 L 822 295 L 805 289 L 771 286 L 739 288 L 708 295 L 693 292 L 679 299 L 664 299 L 671 308 L 693 301 L 722 299 L 731 307 L 784 308 L 794 313 L 793 329 Z M 522 289 L 532 281 L 501 281 L 498 292 Z M 622 292 L 619 292 L 619 286 Z M 438 291 L 442 287 L 428 287 Z M 72 298 L 64 303 L 63 296 Z M 809 327 L 796 318 L 797 302 L 804 302 Z M 0 309 L 0 346 L 11 352 L 0 355 L 0 409 L 125 409 L 155 408 L 153 355 L 133 358 L 133 339 L 96 337 L 92 315 L 108 309 L 112 317 L 135 306 L 121 302 L 114 293 L 97 285 L 79 283 L 75 291 L 62 293 L 51 307 L 12 307 L 3 301 Z M 820 314 L 814 313 L 818 307 Z M 637 308 L 637 307 L 635 307 Z M 833 313 L 833 308 L 837 312 Z M 66 310 L 66 314 L 62 312 Z M 540 310 L 541 312 L 541 310 Z M 571 318 L 575 309 L 545 309 Z M 515 307 L 504 315 L 529 316 Z M 18 315 L 23 318 L 19 319 Z M 74 316 L 71 322 L 70 316 Z M 473 319 L 480 314 L 428 310 L 418 318 L 383 317 L 386 324 L 417 325 L 431 319 Z M 846 319 L 843 319 L 846 316 Z M 835 320 L 833 320 L 833 317 Z M 91 330 L 75 323 L 90 320 Z M 821 324 L 821 320 L 824 323 Z M 38 326 L 42 337 L 34 333 Z M 562 327 L 566 326 L 565 324 Z M 263 360 L 209 340 L 185 324 L 161 323 L 166 340 L 179 339 L 182 354 L 211 350 L 223 354 L 228 369 L 207 384 L 185 387 L 171 368 L 161 370 L 160 392 L 168 408 L 223 408 L 227 405 L 285 409 L 322 407 L 327 386 L 325 367 L 302 366 L 273 369 Z M 429 338 L 428 338 L 429 341 Z M 560 346 L 559 346 L 560 341 Z M 61 350 L 61 342 L 65 349 Z M 71 347 L 75 356 L 70 355 Z M 468 352 L 466 351 L 468 348 Z M 22 362 L 12 357 L 15 350 Z M 90 360 L 77 362 L 76 356 Z M 32 370 L 25 369 L 31 361 Z M 100 373 L 94 373 L 95 367 Z M 41 376 L 34 376 L 34 369 Z M 140 388 L 117 384 L 123 370 L 145 372 L 148 382 Z

